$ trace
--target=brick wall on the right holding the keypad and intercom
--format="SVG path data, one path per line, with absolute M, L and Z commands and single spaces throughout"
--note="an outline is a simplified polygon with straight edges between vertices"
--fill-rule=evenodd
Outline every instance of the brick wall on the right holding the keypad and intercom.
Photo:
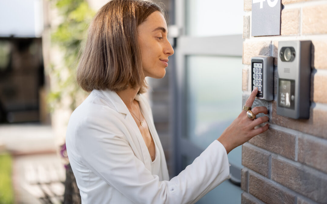
M 250 94 L 250 58 L 274 57 L 269 130 L 242 148 L 242 203 L 327 203 L 327 1 L 282 0 L 281 35 L 251 37 L 251 0 L 244 0 L 243 103 Z M 276 114 L 278 41 L 312 40 L 310 118 Z M 308 85 L 309 86 L 309 85 Z M 259 115 L 260 117 L 260 115 Z

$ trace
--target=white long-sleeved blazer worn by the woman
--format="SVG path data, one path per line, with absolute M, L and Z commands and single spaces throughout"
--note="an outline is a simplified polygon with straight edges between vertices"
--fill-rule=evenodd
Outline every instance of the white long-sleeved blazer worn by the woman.
M 195 203 L 229 178 L 226 150 L 215 140 L 169 180 L 149 103 L 142 94 L 135 99 L 160 151 L 163 180 L 151 174 L 149 151 L 125 103 L 116 92 L 93 90 L 71 115 L 66 135 L 82 203 Z

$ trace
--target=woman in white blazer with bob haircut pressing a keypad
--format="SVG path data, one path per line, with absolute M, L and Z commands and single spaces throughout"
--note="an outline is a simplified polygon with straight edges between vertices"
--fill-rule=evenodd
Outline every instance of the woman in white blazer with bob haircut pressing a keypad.
M 112 0 L 95 15 L 77 68 L 89 97 L 73 112 L 66 146 L 82 203 L 194 203 L 229 177 L 227 154 L 268 121 L 242 111 L 178 176 L 169 180 L 145 77 L 162 78 L 174 51 L 163 10 L 141 0 Z M 255 89 L 246 106 L 251 107 Z M 267 114 L 266 107 L 253 113 Z M 252 113 L 252 112 L 249 112 Z

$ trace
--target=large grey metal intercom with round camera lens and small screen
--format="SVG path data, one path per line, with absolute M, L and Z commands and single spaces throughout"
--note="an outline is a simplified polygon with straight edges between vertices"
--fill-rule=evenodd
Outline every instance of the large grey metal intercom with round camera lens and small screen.
M 277 67 L 277 114 L 294 119 L 308 119 L 311 41 L 279 41 Z

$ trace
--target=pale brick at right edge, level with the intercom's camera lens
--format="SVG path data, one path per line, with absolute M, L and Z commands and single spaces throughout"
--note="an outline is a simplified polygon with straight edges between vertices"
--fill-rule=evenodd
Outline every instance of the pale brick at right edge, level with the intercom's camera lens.
M 327 40 L 312 40 L 311 67 L 315 69 L 327 69 Z

